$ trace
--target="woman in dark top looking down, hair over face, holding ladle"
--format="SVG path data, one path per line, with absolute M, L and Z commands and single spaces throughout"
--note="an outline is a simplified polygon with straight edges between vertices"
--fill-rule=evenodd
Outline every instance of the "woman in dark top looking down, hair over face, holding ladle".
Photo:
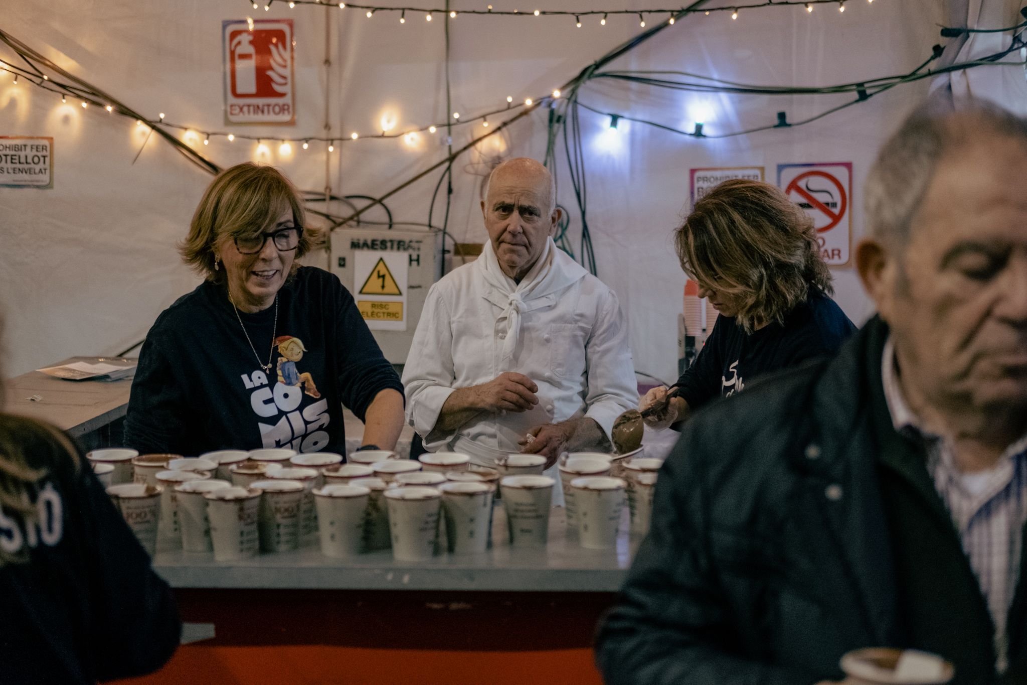
M 855 331 L 831 299 L 831 271 L 813 221 L 779 188 L 734 179 L 711 190 L 675 231 L 678 259 L 720 312 L 652 428 L 683 421 L 703 405 L 766 374 L 832 356 Z M 649 390 L 644 411 L 667 397 Z

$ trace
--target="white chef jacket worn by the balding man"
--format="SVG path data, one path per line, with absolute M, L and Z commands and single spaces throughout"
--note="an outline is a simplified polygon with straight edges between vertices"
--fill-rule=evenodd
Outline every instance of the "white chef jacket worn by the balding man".
M 492 260 L 491 277 L 486 260 Z M 535 277 L 544 278 L 546 288 L 525 296 L 512 350 L 505 345 L 506 312 L 509 292 L 518 287 L 501 272 L 505 286 L 496 287 L 498 262 L 491 243 L 478 260 L 428 291 L 403 373 L 407 420 L 427 450 L 464 452 L 476 463 L 491 465 L 501 454 L 520 452 L 518 442 L 531 428 L 586 416 L 609 437 L 617 416 L 637 406 L 626 325 L 613 291 L 551 238 L 539 263 L 544 272 L 529 272 L 522 286 Z M 454 389 L 481 385 L 507 371 L 538 385 L 534 409 L 483 412 L 455 432 L 434 430 Z

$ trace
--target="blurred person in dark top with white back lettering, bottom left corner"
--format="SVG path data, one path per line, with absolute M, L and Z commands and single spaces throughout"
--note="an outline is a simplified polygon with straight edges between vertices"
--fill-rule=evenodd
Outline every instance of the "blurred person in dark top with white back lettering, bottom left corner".
M 181 630 L 172 588 L 75 445 L 0 413 L 0 682 L 144 676 Z

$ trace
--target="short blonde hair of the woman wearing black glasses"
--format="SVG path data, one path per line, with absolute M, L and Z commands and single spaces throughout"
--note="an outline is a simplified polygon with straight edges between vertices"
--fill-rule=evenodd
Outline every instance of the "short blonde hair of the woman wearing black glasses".
M 224 282 L 225 270 L 214 268 L 218 241 L 222 237 L 257 237 L 284 211 L 303 228 L 296 259 L 310 252 L 316 232 L 306 225 L 303 199 L 289 179 L 273 166 L 244 162 L 226 168 L 203 192 L 189 225 L 189 235 L 179 244 L 186 264 L 207 280 Z M 293 269 L 299 268 L 293 262 Z

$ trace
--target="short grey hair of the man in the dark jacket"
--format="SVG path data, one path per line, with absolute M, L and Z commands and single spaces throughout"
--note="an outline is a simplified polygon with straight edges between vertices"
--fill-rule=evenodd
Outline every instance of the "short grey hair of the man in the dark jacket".
M 1027 119 L 991 103 L 939 112 L 928 102 L 913 112 L 881 147 L 867 176 L 864 206 L 868 235 L 905 245 L 938 162 L 989 135 L 1027 144 Z

